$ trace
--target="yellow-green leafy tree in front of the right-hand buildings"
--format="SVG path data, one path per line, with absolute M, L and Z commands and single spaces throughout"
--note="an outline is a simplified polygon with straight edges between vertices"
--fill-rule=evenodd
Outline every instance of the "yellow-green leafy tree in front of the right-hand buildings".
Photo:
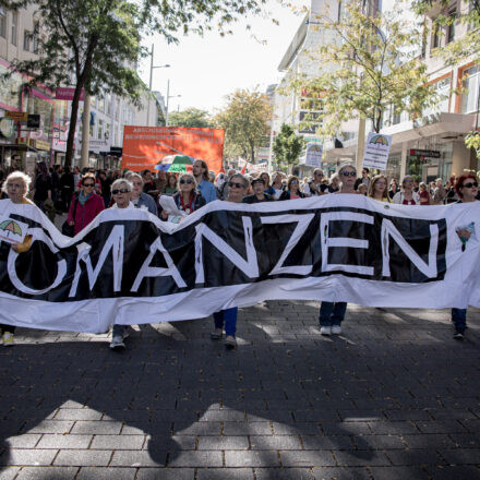
M 341 122 L 356 118 L 370 120 L 379 132 L 386 111 L 415 117 L 435 101 L 418 58 L 421 32 L 397 8 L 372 16 L 363 0 L 352 0 L 343 19 L 321 17 L 319 27 L 333 40 L 309 53 L 325 67 L 316 76 L 296 79 L 292 87 L 308 92 L 303 108 L 322 112 L 321 135 L 333 136 Z

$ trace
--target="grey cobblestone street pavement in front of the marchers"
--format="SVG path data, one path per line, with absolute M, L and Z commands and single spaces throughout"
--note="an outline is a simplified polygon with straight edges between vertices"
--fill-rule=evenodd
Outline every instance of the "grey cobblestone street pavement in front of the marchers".
M 0 479 L 480 479 L 480 311 L 317 302 L 107 335 L 20 328 L 0 346 Z

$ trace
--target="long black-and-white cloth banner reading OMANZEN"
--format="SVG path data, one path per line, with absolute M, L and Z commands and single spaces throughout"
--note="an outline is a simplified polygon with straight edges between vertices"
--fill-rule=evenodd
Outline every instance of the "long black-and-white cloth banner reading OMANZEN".
M 178 225 L 110 208 L 73 239 L 33 205 L 2 200 L 0 220 L 33 237 L 24 253 L 0 242 L 0 323 L 105 332 L 274 299 L 480 307 L 478 202 L 217 201 Z M 463 248 L 456 231 L 471 224 Z

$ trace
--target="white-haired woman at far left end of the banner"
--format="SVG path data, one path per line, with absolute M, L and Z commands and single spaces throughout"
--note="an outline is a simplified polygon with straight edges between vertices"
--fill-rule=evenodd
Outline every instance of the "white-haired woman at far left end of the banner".
M 2 192 L 8 195 L 10 201 L 15 204 L 34 205 L 26 194 L 28 193 L 28 187 L 31 184 L 31 178 L 22 171 L 12 171 L 7 177 L 2 185 Z M 27 235 L 22 243 L 12 245 L 12 249 L 16 253 L 27 252 L 32 245 L 32 236 Z M 15 327 L 13 325 L 0 324 L 0 334 L 3 346 L 11 347 L 13 345 L 13 335 Z

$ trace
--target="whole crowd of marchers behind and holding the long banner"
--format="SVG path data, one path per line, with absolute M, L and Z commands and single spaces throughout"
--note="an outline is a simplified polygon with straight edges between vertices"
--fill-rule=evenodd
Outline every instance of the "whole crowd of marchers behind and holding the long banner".
M 74 236 L 82 231 L 105 208 L 143 208 L 168 221 L 170 214 L 161 205 L 163 195 L 172 196 L 182 215 L 202 208 L 209 202 L 220 200 L 235 203 L 261 203 L 304 199 L 326 194 L 363 194 L 375 201 L 403 205 L 441 205 L 467 203 L 479 200 L 478 179 L 472 173 L 454 176 L 443 185 L 442 179 L 429 184 L 418 183 L 413 177 L 405 176 L 398 183 L 384 175 L 371 175 L 363 168 L 361 176 L 353 166 L 343 166 L 329 178 L 322 169 L 313 171 L 312 177 L 300 180 L 297 176 L 265 171 L 242 175 L 235 169 L 215 176 L 204 160 L 195 160 L 191 172 L 169 173 L 151 170 L 141 173 L 120 169 L 80 171 L 77 167 L 56 166 L 47 168 L 45 163 L 37 165 L 32 179 L 20 170 L 0 172 L 2 199 L 13 203 L 35 204 L 50 220 L 56 214 L 67 213 L 63 232 Z M 463 241 L 471 236 L 468 228 L 458 232 Z M 27 236 L 22 244 L 13 249 L 17 253 L 28 251 L 32 238 Z M 347 303 L 322 301 L 319 322 L 322 335 L 339 335 L 345 319 Z M 225 345 L 236 348 L 237 308 L 216 312 L 212 339 L 223 338 Z M 454 338 L 463 339 L 466 329 L 466 309 L 453 309 L 452 321 L 455 326 Z M 110 348 L 125 347 L 124 338 L 129 328 L 113 325 Z M 14 326 L 0 325 L 4 346 L 13 345 Z

